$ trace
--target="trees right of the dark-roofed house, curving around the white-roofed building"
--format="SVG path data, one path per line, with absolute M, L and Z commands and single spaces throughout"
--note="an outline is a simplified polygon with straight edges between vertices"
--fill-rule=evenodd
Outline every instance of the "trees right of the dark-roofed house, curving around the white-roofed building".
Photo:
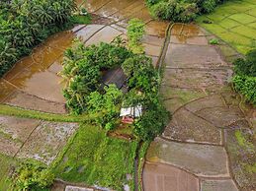
M 135 120 L 133 133 L 143 141 L 152 140 L 162 133 L 169 121 L 169 112 L 158 95 L 159 74 L 152 65 L 152 59 L 143 54 L 129 57 L 122 68 L 128 76 L 129 88 L 124 103 L 127 106 L 141 104 L 143 107 L 143 115 Z

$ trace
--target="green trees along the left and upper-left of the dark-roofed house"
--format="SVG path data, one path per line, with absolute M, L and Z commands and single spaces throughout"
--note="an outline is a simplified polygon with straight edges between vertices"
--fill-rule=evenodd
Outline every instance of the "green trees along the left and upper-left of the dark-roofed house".
M 101 71 L 121 65 L 129 55 L 128 49 L 114 43 L 85 47 L 81 41 L 76 41 L 67 49 L 61 74 L 66 82 L 63 95 L 71 113 L 86 111 L 87 96 L 100 89 Z

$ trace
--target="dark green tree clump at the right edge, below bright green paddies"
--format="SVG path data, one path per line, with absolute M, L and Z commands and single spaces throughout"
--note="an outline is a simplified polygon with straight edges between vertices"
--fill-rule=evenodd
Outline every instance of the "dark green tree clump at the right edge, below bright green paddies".
M 256 49 L 250 50 L 245 58 L 234 61 L 235 75 L 232 79 L 235 91 L 256 105 Z

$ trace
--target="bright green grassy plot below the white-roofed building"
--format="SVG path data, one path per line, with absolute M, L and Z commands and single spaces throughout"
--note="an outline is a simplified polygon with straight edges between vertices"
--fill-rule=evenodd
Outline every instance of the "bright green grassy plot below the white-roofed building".
M 136 142 L 109 138 L 102 129 L 83 124 L 52 168 L 63 180 L 122 190 L 124 183 L 133 187 L 126 174 L 133 176 L 136 147 Z

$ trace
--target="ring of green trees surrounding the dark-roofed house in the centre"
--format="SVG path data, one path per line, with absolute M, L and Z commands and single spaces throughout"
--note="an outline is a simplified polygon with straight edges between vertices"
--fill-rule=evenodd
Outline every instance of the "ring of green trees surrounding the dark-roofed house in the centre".
M 107 130 L 117 125 L 122 105 L 141 104 L 143 115 L 135 120 L 133 132 L 145 141 L 162 132 L 169 113 L 158 95 L 160 77 L 152 59 L 134 48 L 141 44 L 143 33 L 143 23 L 132 20 L 128 26 L 128 48 L 121 38 L 87 47 L 77 40 L 65 51 L 61 74 L 66 82 L 63 95 L 70 112 L 97 113 L 95 121 Z M 114 67 L 122 67 L 128 78 L 126 94 L 115 85 L 102 88 L 103 72 Z

